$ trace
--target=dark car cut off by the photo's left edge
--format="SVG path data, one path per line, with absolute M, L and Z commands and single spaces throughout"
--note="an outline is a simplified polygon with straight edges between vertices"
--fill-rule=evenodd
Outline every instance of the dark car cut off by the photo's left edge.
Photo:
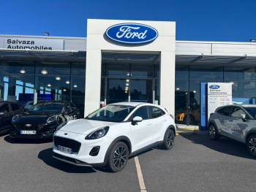
M 23 104 L 10 101 L 0 101 L 0 134 L 9 132 L 12 117 L 24 112 Z

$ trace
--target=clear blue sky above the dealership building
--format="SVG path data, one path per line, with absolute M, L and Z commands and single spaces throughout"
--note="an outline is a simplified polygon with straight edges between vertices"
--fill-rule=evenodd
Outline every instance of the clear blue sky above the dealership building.
M 86 37 L 88 18 L 176 21 L 176 39 L 256 39 L 255 0 L 1 1 L 0 34 Z

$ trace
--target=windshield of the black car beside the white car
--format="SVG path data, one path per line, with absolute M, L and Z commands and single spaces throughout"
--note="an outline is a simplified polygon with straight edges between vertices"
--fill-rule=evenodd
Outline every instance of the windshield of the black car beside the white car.
M 29 109 L 29 112 L 61 112 L 62 103 L 39 103 Z

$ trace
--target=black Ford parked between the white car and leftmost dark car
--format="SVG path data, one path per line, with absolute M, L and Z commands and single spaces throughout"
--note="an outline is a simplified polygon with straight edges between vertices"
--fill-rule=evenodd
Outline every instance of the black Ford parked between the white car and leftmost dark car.
M 69 101 L 44 101 L 14 115 L 10 128 L 13 139 L 50 139 L 61 123 L 80 118 L 78 107 Z

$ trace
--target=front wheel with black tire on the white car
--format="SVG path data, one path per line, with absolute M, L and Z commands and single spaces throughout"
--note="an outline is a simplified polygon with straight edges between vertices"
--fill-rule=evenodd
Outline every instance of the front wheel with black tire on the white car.
M 120 172 L 127 165 L 129 149 L 124 142 L 117 142 L 108 154 L 107 169 L 110 172 Z

